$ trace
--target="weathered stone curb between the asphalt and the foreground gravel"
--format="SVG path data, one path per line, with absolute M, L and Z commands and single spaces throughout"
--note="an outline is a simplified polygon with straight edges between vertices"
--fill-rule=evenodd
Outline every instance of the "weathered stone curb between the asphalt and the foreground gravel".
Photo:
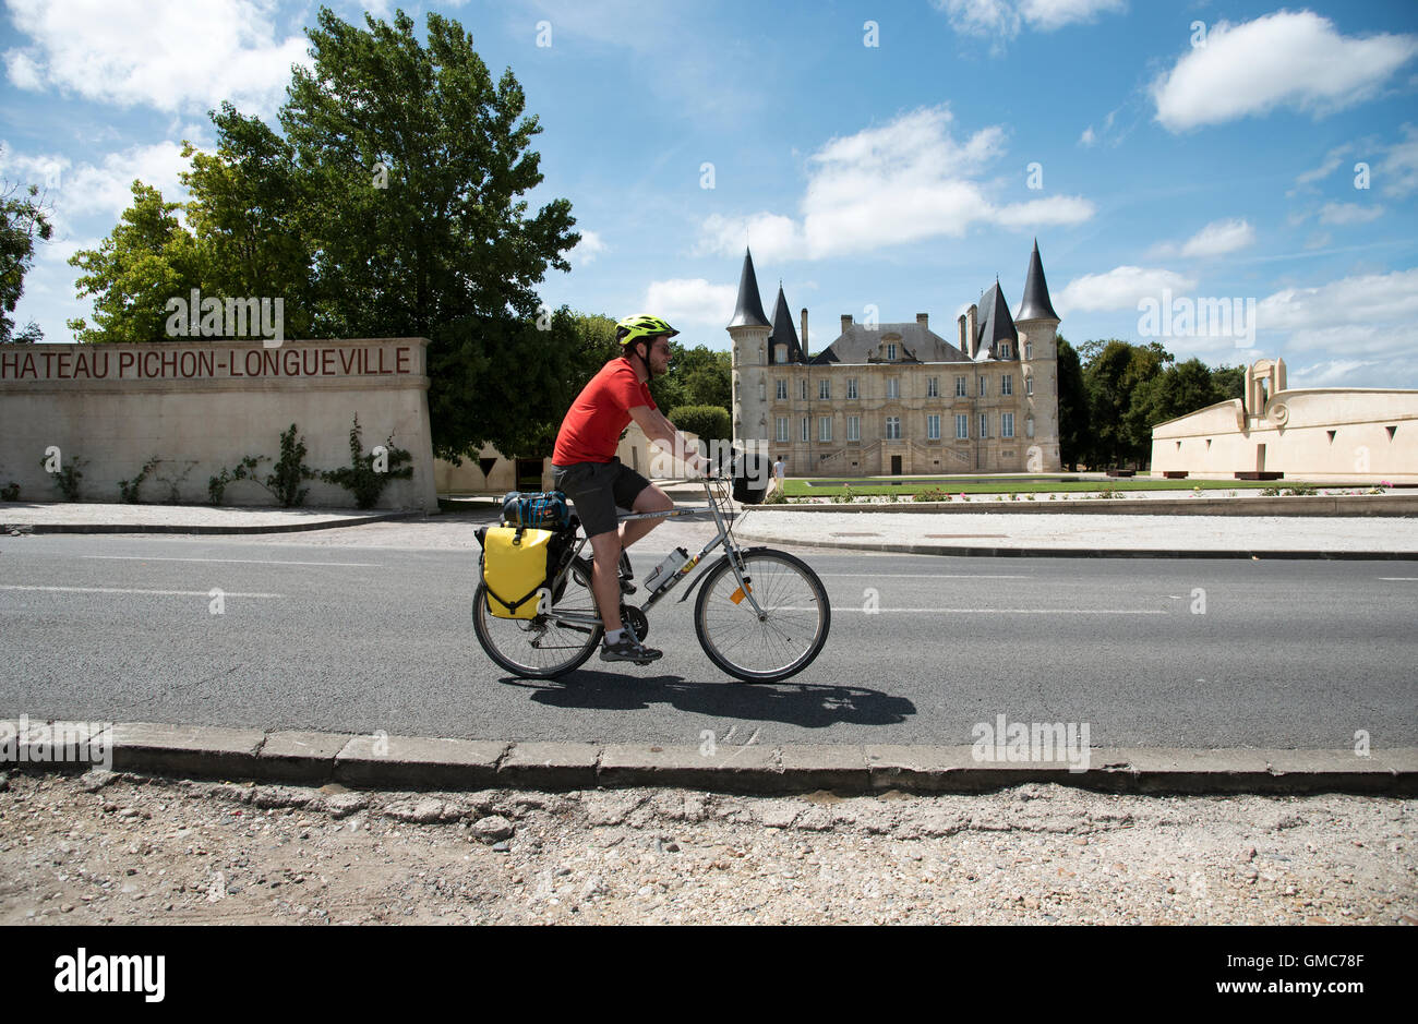
M 26 719 L 26 725 L 27 733 L 18 736 L 18 722 L 0 720 L 0 738 L 6 742 L 3 767 L 85 772 L 102 762 L 92 747 L 64 747 L 51 722 Z M 393 790 L 665 786 L 759 794 L 814 790 L 864 794 L 986 793 L 1022 783 L 1058 783 L 1137 794 L 1418 794 L 1418 747 L 1381 749 L 1366 757 L 1351 750 L 1093 747 L 1086 766 L 1081 766 L 1066 760 L 990 762 L 977 759 L 971 746 L 926 745 L 549 743 L 267 733 L 153 722 L 112 723 L 108 736 L 115 772 Z M 77 738 L 99 742 L 99 733 L 88 726 Z

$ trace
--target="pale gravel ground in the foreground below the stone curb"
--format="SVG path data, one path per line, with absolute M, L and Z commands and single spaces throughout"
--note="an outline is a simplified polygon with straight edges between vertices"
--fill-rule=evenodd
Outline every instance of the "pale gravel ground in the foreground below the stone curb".
M 1418 925 L 1415 800 L 0 776 L 0 925 Z

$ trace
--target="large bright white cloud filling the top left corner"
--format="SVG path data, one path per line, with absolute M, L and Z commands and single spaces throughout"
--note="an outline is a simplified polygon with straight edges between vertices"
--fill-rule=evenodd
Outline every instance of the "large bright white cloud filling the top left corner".
M 306 40 L 278 40 L 274 0 L 9 0 L 30 45 L 6 51 L 11 84 L 96 102 L 269 113 Z

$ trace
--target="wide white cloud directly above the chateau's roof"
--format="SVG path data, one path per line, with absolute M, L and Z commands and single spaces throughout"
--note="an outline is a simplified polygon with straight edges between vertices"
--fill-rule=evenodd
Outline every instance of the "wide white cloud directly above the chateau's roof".
M 696 252 L 736 255 L 747 231 L 764 257 L 821 260 L 922 238 L 959 238 L 977 223 L 1025 228 L 1093 216 L 1093 204 L 1079 196 L 997 206 L 977 179 L 1003 153 L 1004 130 L 984 128 L 957 142 L 950 121 L 942 105 L 831 139 L 807 160 L 801 220 L 715 214 L 700 226 Z

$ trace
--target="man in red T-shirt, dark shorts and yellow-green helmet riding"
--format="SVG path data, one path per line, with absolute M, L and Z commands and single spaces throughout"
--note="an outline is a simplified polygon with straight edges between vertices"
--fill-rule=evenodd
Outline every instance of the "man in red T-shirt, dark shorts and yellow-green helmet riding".
M 658 316 L 627 316 L 615 325 L 621 355 L 581 389 L 562 421 L 552 452 L 552 486 L 576 505 L 591 542 L 591 591 L 605 627 L 601 661 L 651 661 L 661 651 L 644 647 L 621 624 L 621 552 L 655 529 L 661 519 L 635 519 L 617 528 L 615 508 L 669 512 L 669 496 L 615 457 L 621 431 L 634 420 L 652 443 L 691 469 L 708 471 L 702 458 L 649 397 L 648 382 L 669 372 L 669 339 L 679 332 Z M 632 590 L 627 583 L 625 587 Z

